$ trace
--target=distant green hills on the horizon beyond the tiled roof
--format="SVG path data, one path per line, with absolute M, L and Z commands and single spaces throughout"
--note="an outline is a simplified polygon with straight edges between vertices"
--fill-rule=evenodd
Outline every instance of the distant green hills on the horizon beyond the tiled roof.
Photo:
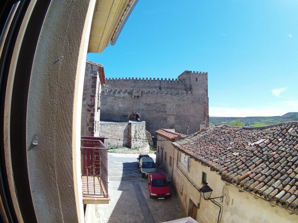
M 216 123 L 224 123 L 240 120 L 245 125 L 264 126 L 275 123 L 298 121 L 298 112 L 288 112 L 282 116 L 268 116 L 268 117 L 209 117 L 209 126 Z

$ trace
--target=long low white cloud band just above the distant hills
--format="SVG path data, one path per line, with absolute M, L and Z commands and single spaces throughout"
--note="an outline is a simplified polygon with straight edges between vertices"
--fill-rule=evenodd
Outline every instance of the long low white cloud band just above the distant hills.
M 264 108 L 231 108 L 231 107 L 209 107 L 211 117 L 250 117 L 250 116 L 279 116 L 290 112 L 287 106 L 264 107 Z M 298 109 L 298 108 L 297 108 Z

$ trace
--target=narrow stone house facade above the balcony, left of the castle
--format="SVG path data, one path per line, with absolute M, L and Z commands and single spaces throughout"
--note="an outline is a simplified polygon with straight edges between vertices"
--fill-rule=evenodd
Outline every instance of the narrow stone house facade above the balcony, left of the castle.
M 103 65 L 87 61 L 85 69 L 81 116 L 81 135 L 99 136 L 100 93 L 105 84 Z

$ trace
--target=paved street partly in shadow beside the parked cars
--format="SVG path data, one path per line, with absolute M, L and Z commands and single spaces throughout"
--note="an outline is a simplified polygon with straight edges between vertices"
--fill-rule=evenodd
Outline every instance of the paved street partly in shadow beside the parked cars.
M 149 154 L 154 160 L 155 155 Z M 101 223 L 158 223 L 184 217 L 174 194 L 168 199 L 149 197 L 146 178 L 141 178 L 137 154 L 108 154 L 109 204 L 97 205 Z

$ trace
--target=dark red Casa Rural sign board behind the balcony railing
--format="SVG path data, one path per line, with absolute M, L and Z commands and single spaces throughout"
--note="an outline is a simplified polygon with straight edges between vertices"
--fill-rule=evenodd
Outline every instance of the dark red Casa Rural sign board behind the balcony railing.
M 104 137 L 82 136 L 83 147 L 83 175 L 100 174 L 100 141 L 104 143 Z

